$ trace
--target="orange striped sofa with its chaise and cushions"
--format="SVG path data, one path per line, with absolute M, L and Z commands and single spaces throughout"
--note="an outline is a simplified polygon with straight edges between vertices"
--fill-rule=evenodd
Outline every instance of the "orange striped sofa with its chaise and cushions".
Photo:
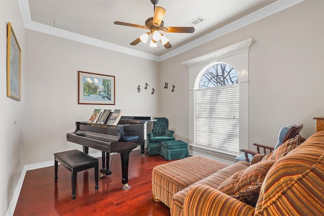
M 323 215 L 324 131 L 302 144 L 293 138 L 265 157 L 254 157 L 260 161 L 254 158 L 251 165 L 204 157 L 196 158 L 197 163 L 186 158 L 162 164 L 152 172 L 153 197 L 168 205 L 172 216 Z M 240 201 L 256 185 L 255 202 Z

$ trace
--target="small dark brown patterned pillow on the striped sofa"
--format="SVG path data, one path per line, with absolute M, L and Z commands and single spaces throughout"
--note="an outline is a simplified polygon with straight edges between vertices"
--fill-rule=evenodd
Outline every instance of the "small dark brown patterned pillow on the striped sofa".
M 255 207 L 259 199 L 261 185 L 262 182 L 252 182 L 245 190 L 239 191 L 237 195 L 231 195 L 231 197 Z

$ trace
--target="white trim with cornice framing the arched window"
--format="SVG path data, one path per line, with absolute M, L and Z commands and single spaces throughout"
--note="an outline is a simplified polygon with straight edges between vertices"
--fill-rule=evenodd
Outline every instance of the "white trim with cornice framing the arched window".
M 190 153 L 195 155 L 199 148 L 194 146 L 194 94 L 193 90 L 199 87 L 202 73 L 215 64 L 225 62 L 233 66 L 239 81 L 239 148 L 248 148 L 249 141 L 249 49 L 255 42 L 252 38 L 242 40 L 231 46 L 208 53 L 203 56 L 182 62 L 189 68 L 189 146 Z M 205 153 L 224 156 L 227 159 L 235 158 L 233 155 L 204 149 Z M 239 152 L 237 152 L 239 154 Z

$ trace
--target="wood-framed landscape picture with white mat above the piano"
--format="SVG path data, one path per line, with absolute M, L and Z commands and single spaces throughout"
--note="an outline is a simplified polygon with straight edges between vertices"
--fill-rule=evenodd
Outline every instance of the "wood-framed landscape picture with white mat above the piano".
M 115 76 L 78 71 L 78 104 L 115 105 Z

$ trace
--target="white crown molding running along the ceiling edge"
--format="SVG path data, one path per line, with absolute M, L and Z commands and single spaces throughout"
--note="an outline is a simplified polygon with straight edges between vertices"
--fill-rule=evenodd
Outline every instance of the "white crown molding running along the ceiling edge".
M 144 58 L 144 59 L 148 59 L 148 60 L 152 60 L 152 61 L 157 61 L 157 62 L 161 62 L 161 61 L 167 60 L 169 58 L 172 58 L 172 57 L 179 55 L 183 52 L 186 52 L 186 51 L 191 50 L 195 47 L 203 45 L 206 42 L 209 42 L 209 41 L 216 39 L 220 36 L 228 34 L 228 33 L 235 31 L 239 28 L 245 27 L 249 24 L 252 24 L 252 23 L 259 21 L 265 17 L 271 16 L 277 12 L 280 12 L 282 10 L 290 8 L 290 7 L 297 5 L 304 1 L 305 0 L 293 0 L 293 1 L 292 0 L 278 0 L 278 1 L 264 7 L 258 11 L 255 11 L 245 17 L 240 18 L 240 19 L 238 19 L 224 27 L 221 27 L 209 34 L 199 37 L 199 38 L 189 42 L 186 45 L 183 45 L 177 49 L 174 49 L 164 55 L 155 56 L 152 54 L 136 51 L 136 50 L 126 48 L 123 46 L 111 44 L 111 43 L 103 41 L 103 40 L 95 39 L 95 38 L 88 37 L 85 35 L 77 34 L 77 33 L 70 32 L 70 31 L 65 31 L 65 30 L 62 30 L 59 28 L 55 28 L 52 26 L 48 26 L 48 25 L 44 25 L 41 23 L 31 21 L 28 0 L 18 0 L 22 19 L 23 19 L 26 29 L 43 32 L 46 34 L 74 40 L 77 42 L 82 42 L 84 44 L 100 47 L 100 48 L 107 49 L 107 50 L 112 50 L 112 51 L 119 52 L 119 53 L 132 55 L 132 56 L 136 56 L 136 57 L 140 57 L 140 58 Z

